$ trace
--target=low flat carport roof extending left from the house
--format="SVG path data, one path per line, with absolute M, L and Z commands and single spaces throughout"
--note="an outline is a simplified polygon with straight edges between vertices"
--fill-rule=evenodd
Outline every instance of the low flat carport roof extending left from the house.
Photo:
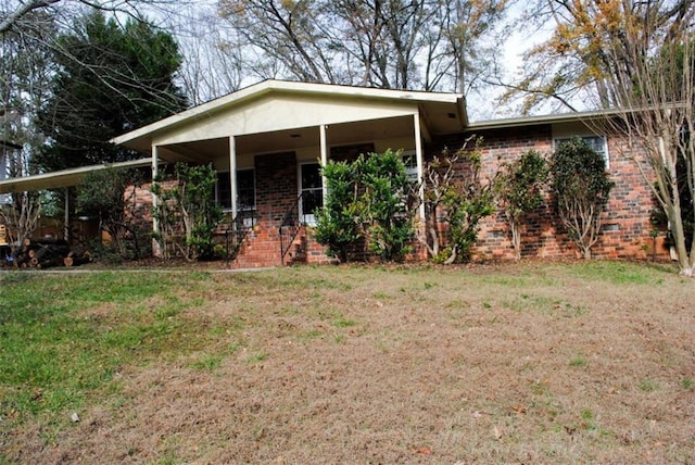
M 109 168 L 138 168 L 152 165 L 152 159 L 140 159 L 128 162 L 108 163 L 103 165 L 83 166 L 34 176 L 15 177 L 0 180 L 0 193 L 26 192 L 33 190 L 58 189 L 77 186 L 89 174 Z

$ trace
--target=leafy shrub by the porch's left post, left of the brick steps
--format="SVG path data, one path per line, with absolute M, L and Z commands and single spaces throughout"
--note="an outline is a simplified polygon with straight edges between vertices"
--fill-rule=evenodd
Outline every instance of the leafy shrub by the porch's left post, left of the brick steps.
M 216 181 L 217 173 L 211 164 L 177 163 L 172 187 L 165 188 L 160 181 L 152 186 L 160 198 L 154 215 L 160 222 L 159 239 L 165 257 L 177 251 L 187 260 L 215 257 L 213 234 L 223 218 L 215 202 Z

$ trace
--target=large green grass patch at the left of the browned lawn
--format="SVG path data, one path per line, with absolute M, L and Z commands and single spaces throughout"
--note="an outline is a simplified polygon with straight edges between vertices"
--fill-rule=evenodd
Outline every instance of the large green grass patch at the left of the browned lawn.
M 4 275 L 0 410 L 79 409 L 119 367 L 202 347 L 202 323 L 181 310 L 203 301 L 176 294 L 190 282 L 186 275 L 152 273 Z

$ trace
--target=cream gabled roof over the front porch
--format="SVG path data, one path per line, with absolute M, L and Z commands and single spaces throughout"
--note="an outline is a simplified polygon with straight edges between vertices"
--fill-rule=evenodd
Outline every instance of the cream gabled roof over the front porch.
M 458 133 L 468 124 L 462 95 L 265 80 L 118 136 L 112 142 L 150 153 L 152 144 L 173 147 L 416 113 L 425 135 Z

